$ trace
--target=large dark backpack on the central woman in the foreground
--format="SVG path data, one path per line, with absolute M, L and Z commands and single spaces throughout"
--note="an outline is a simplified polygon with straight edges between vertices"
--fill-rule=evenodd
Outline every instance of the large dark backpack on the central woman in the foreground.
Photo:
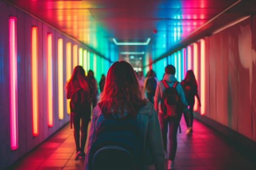
M 107 163 L 101 165 L 104 169 L 121 170 L 130 165 L 130 169 L 135 166 L 137 170 L 142 170 L 143 142 L 136 118 L 103 120 L 88 154 L 90 170 L 99 167 L 96 162 L 105 159 Z

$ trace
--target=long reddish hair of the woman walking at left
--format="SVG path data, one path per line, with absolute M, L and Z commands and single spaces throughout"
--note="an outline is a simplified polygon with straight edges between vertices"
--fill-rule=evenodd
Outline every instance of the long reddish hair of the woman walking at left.
M 85 91 L 89 92 L 89 85 L 86 81 L 85 71 L 81 66 L 76 66 L 73 70 L 70 80 L 67 82 L 66 89 L 72 87 L 82 88 Z

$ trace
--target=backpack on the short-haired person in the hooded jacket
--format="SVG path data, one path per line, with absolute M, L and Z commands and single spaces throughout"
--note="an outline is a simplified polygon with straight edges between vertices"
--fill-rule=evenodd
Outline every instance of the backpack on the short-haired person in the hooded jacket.
M 172 87 L 170 87 L 165 80 L 163 80 L 162 83 L 165 87 L 161 99 L 161 110 L 164 114 L 164 118 L 177 117 L 178 114 L 181 113 L 179 96 L 176 90 L 178 82 L 176 81 Z

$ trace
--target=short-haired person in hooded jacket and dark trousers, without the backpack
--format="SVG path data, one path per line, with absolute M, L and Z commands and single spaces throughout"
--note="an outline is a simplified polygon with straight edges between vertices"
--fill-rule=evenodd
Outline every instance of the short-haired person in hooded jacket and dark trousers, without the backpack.
M 175 72 L 176 68 L 173 65 L 168 65 L 165 67 L 165 74 L 163 76 L 163 80 L 158 82 L 156 94 L 154 97 L 154 106 L 158 113 L 158 119 L 160 122 L 162 137 L 163 137 L 163 145 L 164 145 L 164 151 L 165 151 L 165 158 L 168 159 L 168 170 L 174 169 L 174 159 L 177 151 L 177 129 L 179 126 L 179 121 L 181 119 L 182 115 L 182 109 L 187 108 L 188 103 L 186 101 L 182 86 L 177 82 L 177 79 L 175 78 Z M 173 87 L 177 91 L 177 95 L 179 97 L 179 101 L 182 103 L 182 108 L 177 109 L 177 116 L 175 117 L 165 117 L 163 110 L 161 108 L 158 109 L 158 102 L 161 101 L 163 93 L 165 91 L 165 85 L 167 84 L 169 87 Z M 162 103 L 161 103 L 162 104 Z M 169 124 L 169 155 L 167 155 L 167 129 Z

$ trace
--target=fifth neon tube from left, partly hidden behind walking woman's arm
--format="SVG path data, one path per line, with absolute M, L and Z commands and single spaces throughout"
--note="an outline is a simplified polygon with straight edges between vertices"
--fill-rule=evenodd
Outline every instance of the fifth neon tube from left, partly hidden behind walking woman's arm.
M 66 78 L 67 81 L 71 78 L 71 42 L 67 42 L 66 44 Z M 70 99 L 67 99 L 67 113 L 70 114 Z

